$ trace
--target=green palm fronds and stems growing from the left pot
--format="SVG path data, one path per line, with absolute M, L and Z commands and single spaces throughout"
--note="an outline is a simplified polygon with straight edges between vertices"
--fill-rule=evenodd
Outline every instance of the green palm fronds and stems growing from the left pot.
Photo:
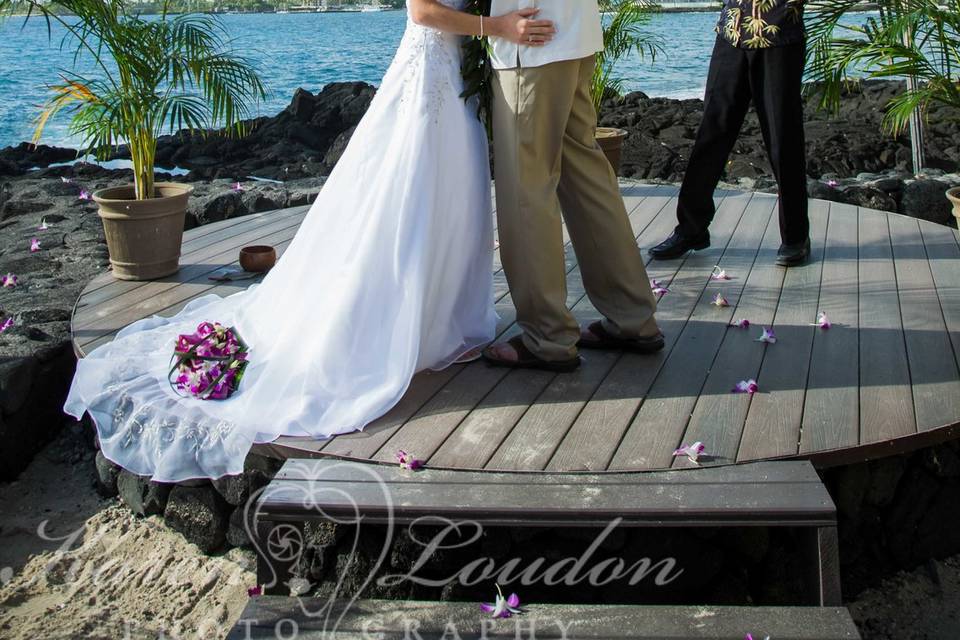
M 168 128 L 205 131 L 223 126 L 243 133 L 242 121 L 265 96 L 253 66 L 232 51 L 213 15 L 142 18 L 123 0 L 0 0 L 0 15 L 27 7 L 28 15 L 66 29 L 61 50 L 73 48 L 73 69 L 62 70 L 38 118 L 34 141 L 60 111 L 71 114 L 71 133 L 87 152 L 105 159 L 126 142 L 138 199 L 153 197 L 157 137 Z M 70 14 L 70 15 L 61 15 Z

